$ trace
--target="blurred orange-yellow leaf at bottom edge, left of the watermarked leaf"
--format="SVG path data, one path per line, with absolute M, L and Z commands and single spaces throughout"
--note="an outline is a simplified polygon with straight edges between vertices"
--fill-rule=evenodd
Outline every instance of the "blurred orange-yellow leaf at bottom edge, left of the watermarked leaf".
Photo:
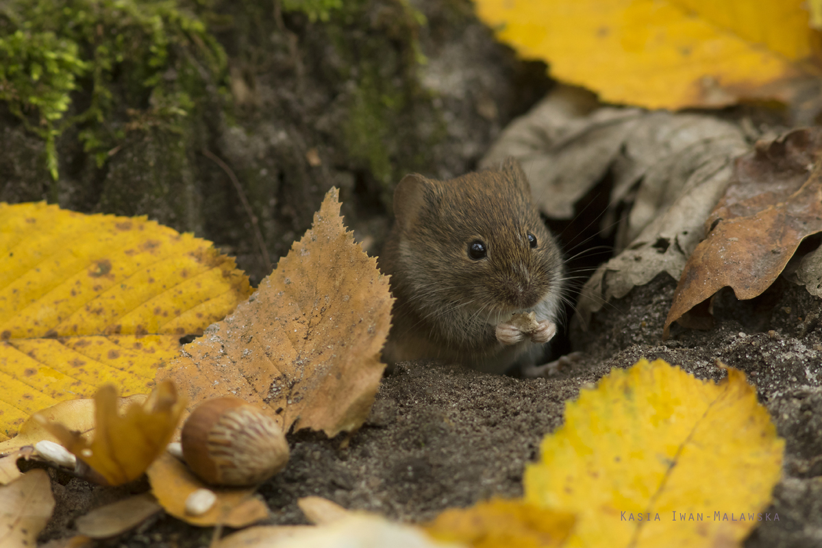
M 438 541 L 472 548 L 554 548 L 564 546 L 574 514 L 521 500 L 488 500 L 468 509 L 448 509 L 424 527 Z

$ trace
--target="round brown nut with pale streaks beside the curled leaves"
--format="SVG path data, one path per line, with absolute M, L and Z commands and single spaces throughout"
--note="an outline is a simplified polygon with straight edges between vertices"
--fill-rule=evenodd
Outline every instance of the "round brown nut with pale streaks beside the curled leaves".
M 182 426 L 182 457 L 207 483 L 250 486 L 285 467 L 289 444 L 262 409 L 240 398 L 211 398 Z

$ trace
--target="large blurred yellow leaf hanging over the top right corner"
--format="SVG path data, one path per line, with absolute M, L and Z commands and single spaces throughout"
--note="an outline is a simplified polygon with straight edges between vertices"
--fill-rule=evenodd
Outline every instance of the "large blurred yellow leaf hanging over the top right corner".
M 610 103 L 718 107 L 792 98 L 819 76 L 806 0 L 476 0 L 479 16 L 552 76 Z

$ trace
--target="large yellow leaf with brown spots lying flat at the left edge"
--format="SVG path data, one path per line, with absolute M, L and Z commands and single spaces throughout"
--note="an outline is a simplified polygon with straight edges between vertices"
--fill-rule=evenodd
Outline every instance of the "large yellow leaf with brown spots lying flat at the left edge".
M 0 441 L 106 383 L 145 394 L 251 293 L 210 242 L 141 218 L 0 204 Z

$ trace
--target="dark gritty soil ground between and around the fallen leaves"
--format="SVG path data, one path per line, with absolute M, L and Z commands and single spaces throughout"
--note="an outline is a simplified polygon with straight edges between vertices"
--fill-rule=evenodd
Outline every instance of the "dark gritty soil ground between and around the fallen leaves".
M 269 523 L 307 523 L 297 506 L 307 495 L 409 522 L 493 495 L 521 495 L 524 467 L 538 457 L 543 436 L 561 425 L 566 400 L 612 367 L 646 357 L 678 364 L 700 379 L 723 377 L 717 361 L 745 371 L 787 440 L 783 481 L 768 510 L 779 520 L 762 523 L 746 546 L 820 546 L 819 300 L 782 280 L 753 302 L 723 293 L 712 330 L 683 330 L 663 343 L 675 285 L 661 274 L 607 306 L 588 333 L 573 333 L 584 358 L 550 379 L 484 375 L 431 362 L 400 364 L 386 376 L 367 425 L 344 449 L 342 438 L 289 436 L 288 467 L 260 490 L 271 509 Z M 113 490 L 56 479 L 58 505 L 43 541 L 72 534 L 75 518 L 146 488 L 138 483 Z M 206 546 L 211 534 L 160 516 L 99 546 Z

